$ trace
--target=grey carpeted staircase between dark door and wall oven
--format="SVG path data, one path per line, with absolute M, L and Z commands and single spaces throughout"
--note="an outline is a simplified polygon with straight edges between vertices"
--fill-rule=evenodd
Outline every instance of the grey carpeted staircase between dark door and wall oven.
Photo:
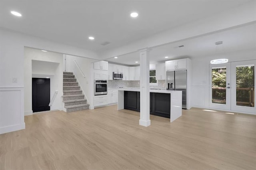
M 63 72 L 63 102 L 64 111 L 74 112 L 89 109 L 89 104 L 86 103 L 82 90 L 75 75 L 72 72 Z

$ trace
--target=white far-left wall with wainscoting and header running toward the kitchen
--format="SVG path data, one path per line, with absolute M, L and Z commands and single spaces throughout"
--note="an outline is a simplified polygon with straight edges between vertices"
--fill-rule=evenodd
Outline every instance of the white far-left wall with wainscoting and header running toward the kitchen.
M 0 134 L 25 128 L 23 104 L 24 75 L 31 74 L 31 72 L 25 71 L 24 65 L 26 65 L 26 62 L 30 62 L 29 64 L 31 64 L 31 61 L 24 61 L 24 47 L 46 49 L 48 51 L 81 57 L 98 58 L 98 55 L 90 50 L 55 43 L 0 28 L 0 91 L 1 93 L 5 93 L 4 95 L 1 94 L 0 97 Z M 12 77 L 17 78 L 17 82 L 13 83 Z M 19 89 L 19 92 L 16 89 Z M 14 91 L 17 93 L 14 93 Z M 6 105 L 5 101 L 8 100 L 16 101 L 16 103 Z M 14 106 L 19 109 L 14 110 Z

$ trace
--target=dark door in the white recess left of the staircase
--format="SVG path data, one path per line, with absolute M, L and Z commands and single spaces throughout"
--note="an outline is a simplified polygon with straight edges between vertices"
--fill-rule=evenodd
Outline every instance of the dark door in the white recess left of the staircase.
M 33 112 L 50 111 L 50 79 L 32 78 Z

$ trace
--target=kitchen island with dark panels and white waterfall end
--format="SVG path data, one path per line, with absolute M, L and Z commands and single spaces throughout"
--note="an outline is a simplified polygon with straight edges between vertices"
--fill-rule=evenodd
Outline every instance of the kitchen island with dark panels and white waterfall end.
M 118 110 L 140 112 L 140 89 L 118 89 Z M 182 115 L 182 91 L 150 90 L 150 114 L 175 121 Z

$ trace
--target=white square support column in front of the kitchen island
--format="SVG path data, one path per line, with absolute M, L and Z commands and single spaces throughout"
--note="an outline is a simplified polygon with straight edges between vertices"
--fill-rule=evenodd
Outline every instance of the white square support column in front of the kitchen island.
M 140 125 L 150 125 L 149 48 L 140 51 Z

